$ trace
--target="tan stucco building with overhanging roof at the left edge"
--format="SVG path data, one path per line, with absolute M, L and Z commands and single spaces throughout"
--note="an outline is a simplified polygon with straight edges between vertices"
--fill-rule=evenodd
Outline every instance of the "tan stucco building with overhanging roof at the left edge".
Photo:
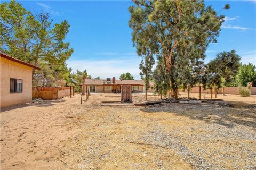
M 32 100 L 32 70 L 40 70 L 32 64 L 0 53 L 1 79 L 0 104 L 1 108 Z

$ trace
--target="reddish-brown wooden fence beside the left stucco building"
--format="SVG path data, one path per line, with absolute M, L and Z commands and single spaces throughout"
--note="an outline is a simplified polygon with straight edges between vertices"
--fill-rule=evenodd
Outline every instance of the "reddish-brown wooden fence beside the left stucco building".
M 46 100 L 61 99 L 70 95 L 70 87 L 33 87 L 32 97 Z M 74 87 L 71 87 L 71 95 L 74 95 Z

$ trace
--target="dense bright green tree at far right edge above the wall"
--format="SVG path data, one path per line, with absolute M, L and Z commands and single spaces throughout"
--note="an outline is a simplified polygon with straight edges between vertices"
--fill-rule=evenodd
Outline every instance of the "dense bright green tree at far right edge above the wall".
M 252 82 L 253 86 L 256 86 L 256 67 L 249 63 L 239 67 L 237 74 L 238 83 L 240 86 L 247 86 L 249 82 Z

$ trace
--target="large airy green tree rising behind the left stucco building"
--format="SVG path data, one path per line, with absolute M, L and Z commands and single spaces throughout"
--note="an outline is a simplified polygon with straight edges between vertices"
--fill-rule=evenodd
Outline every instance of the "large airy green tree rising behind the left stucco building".
M 48 13 L 33 14 L 13 0 L 1 4 L 0 16 L 1 51 L 42 67 L 33 70 L 34 86 L 71 83 L 66 60 L 73 49 L 64 42 L 70 27 L 66 20 L 53 24 Z

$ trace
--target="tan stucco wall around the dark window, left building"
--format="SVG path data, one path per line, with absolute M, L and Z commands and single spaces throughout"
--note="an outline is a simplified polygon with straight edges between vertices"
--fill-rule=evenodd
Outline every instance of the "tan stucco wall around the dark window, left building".
M 19 103 L 27 103 L 32 100 L 32 68 L 6 58 L 0 57 L 0 103 L 1 107 Z M 22 93 L 10 93 L 10 78 L 22 79 Z

